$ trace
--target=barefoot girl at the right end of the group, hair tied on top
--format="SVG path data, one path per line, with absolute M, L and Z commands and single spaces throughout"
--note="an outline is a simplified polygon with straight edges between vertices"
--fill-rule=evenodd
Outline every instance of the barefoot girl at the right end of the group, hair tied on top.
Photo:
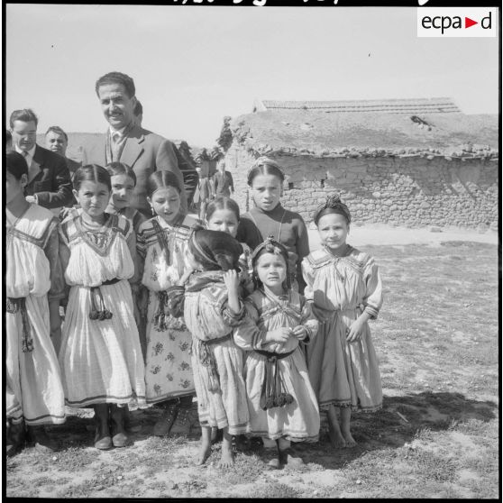
M 322 321 L 307 348 L 307 368 L 321 408 L 327 409 L 334 448 L 356 444 L 351 411 L 382 406 L 380 371 L 368 321 L 382 306 L 380 270 L 375 261 L 346 243 L 351 214 L 339 197 L 328 197 L 314 221 L 322 249 L 303 262 L 306 297 Z M 341 425 L 337 412 L 340 412 Z

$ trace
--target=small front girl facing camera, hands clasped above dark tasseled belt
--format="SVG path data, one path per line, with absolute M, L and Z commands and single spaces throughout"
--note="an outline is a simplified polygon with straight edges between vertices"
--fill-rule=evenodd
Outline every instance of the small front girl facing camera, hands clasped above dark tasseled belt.
M 300 464 L 292 442 L 316 442 L 319 413 L 301 344 L 316 335 L 311 306 L 288 283 L 288 251 L 272 237 L 251 255 L 258 289 L 245 300 L 247 316 L 234 332 L 246 350 L 249 434 L 262 437 L 270 466 Z

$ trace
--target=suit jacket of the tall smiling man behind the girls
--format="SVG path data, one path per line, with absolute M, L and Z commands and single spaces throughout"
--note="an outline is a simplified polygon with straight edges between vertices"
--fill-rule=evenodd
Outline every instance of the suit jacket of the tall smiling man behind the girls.
M 106 134 L 96 136 L 95 142 L 83 152 L 82 164 L 106 164 Z M 192 201 L 197 188 L 197 171 L 179 153 L 174 143 L 151 133 L 139 126 L 134 126 L 127 135 L 121 162 L 128 164 L 136 175 L 132 206 L 144 215 L 151 216 L 147 202 L 147 179 L 156 169 L 167 169 L 178 176 L 182 187 L 181 209 L 187 215 L 187 199 Z

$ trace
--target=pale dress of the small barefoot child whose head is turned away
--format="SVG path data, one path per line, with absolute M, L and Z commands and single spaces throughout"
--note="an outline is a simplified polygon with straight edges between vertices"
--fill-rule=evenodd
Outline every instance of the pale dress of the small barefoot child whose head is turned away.
M 192 334 L 192 370 L 197 411 L 202 426 L 228 427 L 243 434 L 248 425 L 248 403 L 242 377 L 242 351 L 233 342 L 233 329 L 244 308 L 227 308 L 227 290 L 221 270 L 194 273 L 186 288 L 174 288 L 169 302 L 178 304 Z

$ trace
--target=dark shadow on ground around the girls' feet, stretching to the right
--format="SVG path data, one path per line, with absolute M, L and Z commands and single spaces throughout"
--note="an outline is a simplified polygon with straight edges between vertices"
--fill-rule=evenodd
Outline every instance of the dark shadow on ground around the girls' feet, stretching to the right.
M 196 404 L 195 404 L 196 405 Z M 339 470 L 343 466 L 371 451 L 399 448 L 414 440 L 423 429 L 432 432 L 448 430 L 453 424 L 470 419 L 489 422 L 496 417 L 497 404 L 492 401 L 477 401 L 466 398 L 461 393 L 434 393 L 426 391 L 403 397 L 384 397 L 383 408 L 372 414 L 352 415 L 352 434 L 358 445 L 352 449 L 334 451 L 327 432 L 325 415 L 322 415 L 320 440 L 316 444 L 297 444 L 296 450 L 306 463 L 316 463 L 325 469 Z M 131 434 L 133 442 L 141 442 L 152 436 L 152 428 L 162 414 L 162 409 L 151 407 L 131 413 L 133 423 L 141 424 L 142 430 Z M 191 411 L 192 427 L 189 440 L 197 440 L 200 427 L 197 423 L 197 409 Z M 64 425 L 53 426 L 55 436 L 62 449 L 69 447 L 90 447 L 94 434 L 90 430 L 90 418 L 69 416 Z M 160 440 L 160 439 L 159 439 Z M 261 440 L 248 441 L 242 454 L 261 455 Z

